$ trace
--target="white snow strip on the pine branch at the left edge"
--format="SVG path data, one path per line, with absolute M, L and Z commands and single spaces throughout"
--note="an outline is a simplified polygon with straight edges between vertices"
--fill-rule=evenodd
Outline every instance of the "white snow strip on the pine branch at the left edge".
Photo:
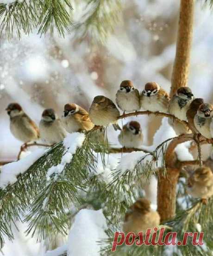
M 0 188 L 5 189 L 5 187 L 10 184 L 12 185 L 17 181 L 17 176 L 19 174 L 25 173 L 26 170 L 36 161 L 38 160 L 47 149 L 38 148 L 33 153 L 29 154 L 25 158 L 6 164 L 2 167 L 0 173 Z

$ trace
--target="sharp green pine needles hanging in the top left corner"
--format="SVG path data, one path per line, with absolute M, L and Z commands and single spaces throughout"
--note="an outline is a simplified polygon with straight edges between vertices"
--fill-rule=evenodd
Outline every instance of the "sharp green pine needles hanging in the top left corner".
M 15 32 L 20 38 L 22 32 L 29 35 L 34 29 L 38 29 L 40 35 L 48 31 L 52 34 L 56 29 L 64 36 L 71 26 L 71 10 L 69 0 L 15 0 L 11 4 L 0 4 L 0 35 L 5 32 L 10 39 Z

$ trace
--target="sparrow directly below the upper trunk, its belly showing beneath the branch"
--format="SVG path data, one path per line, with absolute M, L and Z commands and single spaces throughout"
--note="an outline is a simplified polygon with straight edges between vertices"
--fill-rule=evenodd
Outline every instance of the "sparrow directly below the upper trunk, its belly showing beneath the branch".
M 192 101 L 193 94 L 190 88 L 185 86 L 179 88 L 176 95 L 169 102 L 169 114 L 175 115 L 175 117 L 182 121 L 187 121 L 186 113 Z M 178 120 L 169 119 L 169 124 L 177 135 L 191 133 L 188 126 Z

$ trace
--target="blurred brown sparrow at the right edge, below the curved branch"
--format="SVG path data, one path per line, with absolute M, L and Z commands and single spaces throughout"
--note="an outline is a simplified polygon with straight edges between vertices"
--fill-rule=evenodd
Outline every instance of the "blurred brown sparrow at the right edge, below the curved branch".
M 207 199 L 213 195 L 213 173 L 209 167 L 199 167 L 190 175 L 187 192 L 194 198 Z

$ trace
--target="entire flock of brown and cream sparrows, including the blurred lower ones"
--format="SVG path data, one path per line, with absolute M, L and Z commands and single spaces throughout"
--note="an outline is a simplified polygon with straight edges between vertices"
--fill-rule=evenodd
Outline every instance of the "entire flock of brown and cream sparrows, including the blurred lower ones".
M 188 87 L 181 87 L 170 99 L 168 93 L 157 83 L 146 83 L 140 94 L 129 80 L 120 84 L 116 93 L 116 103 L 124 113 L 139 111 L 141 108 L 152 112 L 164 112 L 174 115 L 180 121 L 188 121 L 194 134 L 201 134 L 207 139 L 213 137 L 213 106 L 196 98 Z M 52 145 L 63 140 L 68 133 L 88 131 L 94 126 L 113 124 L 120 129 L 117 121 L 119 109 L 109 98 L 96 96 L 87 112 L 75 103 L 64 106 L 62 119 L 53 109 L 45 109 L 42 113 L 39 128 L 25 114 L 18 103 L 11 103 L 6 108 L 10 116 L 10 130 L 15 138 L 24 143 L 41 138 Z M 169 124 L 176 134 L 190 133 L 190 129 L 177 119 L 169 119 Z M 143 143 L 140 124 L 136 121 L 126 123 L 119 134 L 119 143 L 123 147 L 137 148 Z M 213 195 L 213 173 L 208 167 L 200 167 L 188 179 L 188 193 L 193 197 L 209 198 Z M 158 226 L 160 217 L 152 211 L 150 202 L 145 198 L 136 201 L 126 213 L 123 229 L 125 232 L 143 231 Z

